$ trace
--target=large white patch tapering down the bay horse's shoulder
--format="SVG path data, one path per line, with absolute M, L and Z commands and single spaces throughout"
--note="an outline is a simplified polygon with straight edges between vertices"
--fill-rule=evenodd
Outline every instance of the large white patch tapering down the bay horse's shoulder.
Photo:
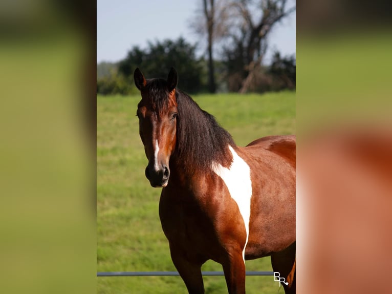
M 238 156 L 232 146 L 229 145 L 229 150 L 233 155 L 233 162 L 230 168 L 222 166 L 214 162 L 212 164 L 212 171 L 220 176 L 225 182 L 231 198 L 238 205 L 239 213 L 245 223 L 246 241 L 242 251 L 242 256 L 245 263 L 245 248 L 248 244 L 249 238 L 249 219 L 250 219 L 250 198 L 252 197 L 252 181 L 250 179 L 250 168 L 244 159 Z

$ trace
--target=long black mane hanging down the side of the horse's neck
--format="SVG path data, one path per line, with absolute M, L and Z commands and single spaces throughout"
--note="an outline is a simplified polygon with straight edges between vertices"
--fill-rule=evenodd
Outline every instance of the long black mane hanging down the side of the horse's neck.
M 232 156 L 228 145 L 235 146 L 231 135 L 215 118 L 202 110 L 187 94 L 176 90 L 178 103 L 177 146 L 175 156 L 190 172 L 211 169 L 217 162 L 229 167 Z

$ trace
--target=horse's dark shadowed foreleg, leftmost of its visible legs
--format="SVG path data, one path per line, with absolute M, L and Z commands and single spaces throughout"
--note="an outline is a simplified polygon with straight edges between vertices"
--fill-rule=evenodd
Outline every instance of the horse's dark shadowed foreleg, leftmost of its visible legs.
M 204 293 L 203 276 L 201 271 L 202 263 L 187 260 L 181 251 L 170 245 L 170 255 L 173 264 L 176 266 L 183 279 L 189 294 Z

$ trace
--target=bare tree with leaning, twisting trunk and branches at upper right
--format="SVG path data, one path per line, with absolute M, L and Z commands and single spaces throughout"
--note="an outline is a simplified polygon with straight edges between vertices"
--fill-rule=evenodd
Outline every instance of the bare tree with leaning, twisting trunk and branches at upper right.
M 267 36 L 275 24 L 295 11 L 287 0 L 231 0 L 225 7 L 228 18 L 223 58 L 229 90 L 246 92 L 256 82 L 267 49 Z

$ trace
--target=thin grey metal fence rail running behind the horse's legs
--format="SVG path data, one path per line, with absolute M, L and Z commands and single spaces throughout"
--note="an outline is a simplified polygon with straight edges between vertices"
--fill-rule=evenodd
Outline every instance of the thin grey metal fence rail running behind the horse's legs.
M 224 276 L 223 271 L 202 271 L 203 276 Z M 246 271 L 247 276 L 273 276 L 273 271 Z M 180 276 L 178 271 L 98 271 L 97 277 Z

